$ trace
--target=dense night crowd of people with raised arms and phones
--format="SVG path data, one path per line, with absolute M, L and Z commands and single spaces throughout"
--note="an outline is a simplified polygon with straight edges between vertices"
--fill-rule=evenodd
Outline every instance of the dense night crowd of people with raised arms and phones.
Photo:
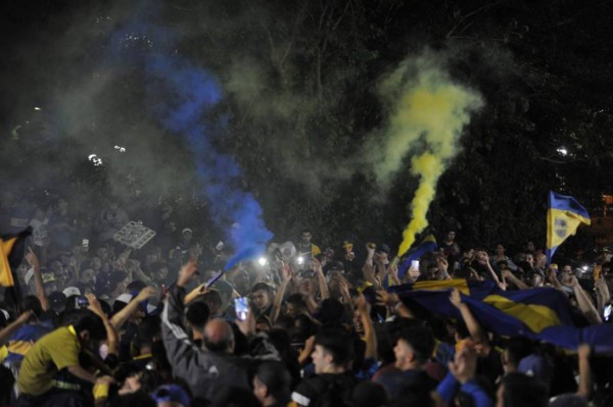
M 61 198 L 3 210 L 3 232 L 31 226 L 32 236 L 15 270 L 20 304 L 8 291 L 0 304 L 0 405 L 613 405 L 610 359 L 590 346 L 500 337 L 457 289 L 446 301 L 461 318 L 389 289 L 454 278 L 549 286 L 579 326 L 604 324 L 606 249 L 555 266 L 531 241 L 509 256 L 501 243 L 461 247 L 449 230 L 401 275 L 383 242 L 321 250 L 305 229 L 220 273 L 227 245 L 177 228 L 172 206 L 140 250 L 113 240 L 129 222 L 116 203 L 86 218 Z

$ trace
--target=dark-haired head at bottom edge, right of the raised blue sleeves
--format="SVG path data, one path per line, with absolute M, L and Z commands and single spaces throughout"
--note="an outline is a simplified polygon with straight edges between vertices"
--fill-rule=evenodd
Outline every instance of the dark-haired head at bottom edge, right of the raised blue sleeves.
M 508 373 L 498 386 L 496 407 L 546 407 L 547 389 L 524 373 Z

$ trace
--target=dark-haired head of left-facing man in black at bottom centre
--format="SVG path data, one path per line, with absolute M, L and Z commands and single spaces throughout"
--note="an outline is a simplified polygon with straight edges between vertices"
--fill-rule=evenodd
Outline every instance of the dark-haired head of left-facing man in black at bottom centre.
M 341 373 L 351 367 L 353 342 L 341 329 L 324 329 L 315 336 L 315 349 L 311 354 L 315 373 Z

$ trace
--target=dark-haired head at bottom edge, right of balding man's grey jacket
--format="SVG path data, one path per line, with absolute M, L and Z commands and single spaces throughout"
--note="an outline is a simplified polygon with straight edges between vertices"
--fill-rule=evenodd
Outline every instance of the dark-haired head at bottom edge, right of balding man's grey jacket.
M 253 375 L 253 394 L 262 406 L 289 401 L 291 376 L 281 362 L 262 362 Z

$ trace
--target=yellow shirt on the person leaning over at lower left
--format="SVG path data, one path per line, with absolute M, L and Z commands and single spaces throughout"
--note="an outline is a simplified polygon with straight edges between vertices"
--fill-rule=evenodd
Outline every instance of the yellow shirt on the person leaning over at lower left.
M 53 384 L 59 370 L 78 366 L 80 343 L 74 327 L 61 327 L 34 343 L 21 362 L 17 384 L 21 393 L 40 395 Z

